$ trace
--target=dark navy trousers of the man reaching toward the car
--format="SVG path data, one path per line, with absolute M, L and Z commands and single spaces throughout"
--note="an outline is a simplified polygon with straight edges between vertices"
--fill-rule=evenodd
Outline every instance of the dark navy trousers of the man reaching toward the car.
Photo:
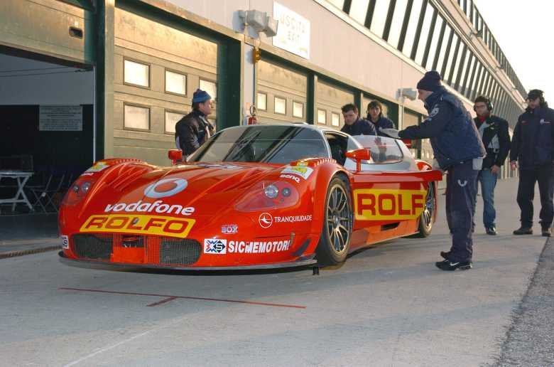
M 469 261 L 473 255 L 473 216 L 477 174 L 472 160 L 450 167 L 446 175 L 446 220 L 452 234 L 448 260 Z

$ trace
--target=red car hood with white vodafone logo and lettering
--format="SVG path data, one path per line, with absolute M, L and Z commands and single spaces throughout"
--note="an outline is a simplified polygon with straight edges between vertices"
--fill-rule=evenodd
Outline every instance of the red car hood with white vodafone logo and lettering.
M 257 163 L 198 163 L 157 168 L 129 162 L 124 167 L 114 167 L 99 180 L 80 214 L 85 217 L 92 213 L 137 212 L 217 216 L 232 208 L 257 182 L 277 179 L 282 168 Z

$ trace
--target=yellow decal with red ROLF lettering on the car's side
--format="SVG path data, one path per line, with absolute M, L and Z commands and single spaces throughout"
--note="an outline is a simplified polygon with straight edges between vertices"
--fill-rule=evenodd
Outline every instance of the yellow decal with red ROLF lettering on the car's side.
M 425 206 L 425 190 L 354 190 L 354 216 L 358 220 L 415 219 Z

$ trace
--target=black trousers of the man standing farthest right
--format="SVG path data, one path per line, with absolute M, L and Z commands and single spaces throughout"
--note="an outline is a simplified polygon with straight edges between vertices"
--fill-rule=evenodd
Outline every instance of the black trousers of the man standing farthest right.
M 553 165 L 545 164 L 532 169 L 519 170 L 518 205 L 521 209 L 521 226 L 533 227 L 533 198 L 535 198 L 535 183 L 538 181 L 538 192 L 541 193 L 541 226 L 548 228 L 552 225 L 554 216 L 553 206 Z

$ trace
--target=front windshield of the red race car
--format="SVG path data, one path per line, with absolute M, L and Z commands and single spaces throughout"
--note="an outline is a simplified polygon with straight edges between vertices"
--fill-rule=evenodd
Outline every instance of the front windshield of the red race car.
M 188 161 L 287 164 L 310 157 L 329 157 L 325 141 L 316 130 L 288 125 L 256 125 L 218 132 Z

